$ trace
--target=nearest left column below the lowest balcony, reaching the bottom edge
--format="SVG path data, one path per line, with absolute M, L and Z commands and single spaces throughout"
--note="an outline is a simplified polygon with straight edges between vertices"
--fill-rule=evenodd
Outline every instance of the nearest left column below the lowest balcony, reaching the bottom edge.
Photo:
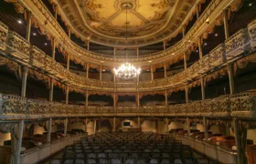
M 18 123 L 18 132 L 17 132 L 17 141 L 16 141 L 16 164 L 20 163 L 20 150 L 22 146 L 23 128 L 24 128 L 24 120 L 20 120 Z

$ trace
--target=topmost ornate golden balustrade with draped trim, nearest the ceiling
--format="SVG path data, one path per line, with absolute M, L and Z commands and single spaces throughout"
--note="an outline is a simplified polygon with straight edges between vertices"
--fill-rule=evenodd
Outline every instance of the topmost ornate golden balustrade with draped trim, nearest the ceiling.
M 69 39 L 69 36 L 65 33 L 65 31 L 62 29 L 62 27 L 59 25 L 58 21 L 54 18 L 53 15 L 48 11 L 48 8 L 42 3 L 41 0 L 22 0 L 20 3 L 24 6 L 29 7 L 32 11 L 32 13 L 37 13 L 35 15 L 35 18 L 40 23 L 40 20 L 47 20 L 48 26 L 44 26 L 45 28 L 48 28 L 47 31 L 52 34 L 54 37 L 58 39 L 59 45 L 61 45 L 61 48 L 63 48 L 65 51 L 67 51 L 72 56 L 76 56 L 79 58 L 82 58 L 84 56 L 90 57 L 91 61 L 95 60 L 102 60 L 102 61 L 110 61 L 110 62 L 122 62 L 123 58 L 114 58 L 113 56 L 107 56 L 102 55 L 98 53 L 94 53 L 91 51 L 86 50 L 85 48 L 78 46 L 73 41 Z M 147 62 L 149 60 L 154 60 L 156 58 L 163 58 L 168 57 L 172 58 L 174 55 L 181 55 L 187 50 L 187 41 L 195 41 L 198 38 L 198 34 L 202 35 L 205 33 L 206 27 L 208 25 L 206 24 L 206 21 L 208 18 L 211 18 L 211 20 L 218 19 L 219 11 L 223 10 L 223 6 L 228 5 L 237 5 L 235 1 L 228 1 L 228 0 L 218 0 L 218 1 L 212 1 L 204 13 L 200 15 L 200 17 L 197 20 L 197 23 L 191 27 L 191 29 L 188 31 L 187 35 L 184 39 L 182 39 L 180 42 L 176 43 L 175 46 L 171 46 L 165 51 L 146 55 L 146 56 L 139 56 L 139 58 L 128 58 L 127 60 L 129 62 Z M 236 8 L 236 7 L 233 7 Z M 58 35 L 56 35 L 58 34 Z M 79 35 L 80 36 L 80 35 Z M 196 39 L 195 39 L 196 38 Z M 191 44 L 193 43 L 191 42 Z M 125 57 L 125 56 L 123 56 Z M 85 59 L 85 58 L 83 58 Z

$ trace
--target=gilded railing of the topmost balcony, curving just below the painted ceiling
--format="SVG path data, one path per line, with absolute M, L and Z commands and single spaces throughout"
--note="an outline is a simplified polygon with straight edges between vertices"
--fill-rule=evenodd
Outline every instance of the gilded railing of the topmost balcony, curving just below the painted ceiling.
M 26 1 L 21 2 L 21 3 L 26 3 Z M 195 40 L 195 38 L 197 38 L 197 32 L 198 29 L 201 29 L 202 26 L 205 25 L 206 20 L 208 19 L 208 17 L 210 17 L 212 15 L 212 13 L 219 7 L 220 4 L 225 4 L 226 6 L 229 4 L 230 5 L 230 1 L 212 1 L 208 7 L 206 8 L 206 10 L 203 12 L 202 15 L 200 15 L 200 17 L 197 20 L 197 23 L 194 24 L 194 26 L 191 27 L 191 29 L 188 31 L 187 35 L 185 36 L 184 39 L 182 39 L 181 41 L 179 41 L 178 43 L 176 43 L 175 46 L 171 46 L 169 48 L 167 48 L 165 51 L 162 52 L 157 52 L 157 53 L 153 53 L 153 54 L 149 54 L 149 55 L 145 55 L 145 56 L 139 56 L 137 57 L 132 57 L 132 58 L 128 58 L 127 60 L 129 62 L 137 62 L 137 61 L 148 61 L 151 59 L 156 59 L 156 58 L 160 58 L 160 57 L 165 57 L 165 56 L 169 56 L 170 58 L 173 57 L 174 55 L 177 54 L 182 54 L 183 52 L 185 52 L 187 50 L 187 41 L 188 40 Z M 44 5 L 44 3 L 41 0 L 37 0 L 37 1 L 31 1 L 31 8 L 35 8 L 35 10 L 37 10 L 37 12 L 41 12 L 41 15 L 44 18 L 44 20 L 48 20 L 48 24 L 50 24 L 52 27 L 55 28 L 55 30 L 58 32 L 59 34 L 59 44 L 61 44 L 63 47 L 65 47 L 65 50 L 69 51 L 70 54 L 75 54 L 75 55 L 80 55 L 80 56 L 88 56 L 91 57 L 93 59 L 99 59 L 99 60 L 104 60 L 104 61 L 116 61 L 116 62 L 120 62 L 123 61 L 123 58 L 120 58 L 118 56 L 116 56 L 116 58 L 114 58 L 114 56 L 107 56 L 107 55 L 103 55 L 103 54 L 99 54 L 99 53 L 95 53 L 95 52 L 91 52 L 88 51 L 87 49 L 77 45 L 76 43 L 74 43 L 73 41 L 71 41 L 69 39 L 69 36 L 65 33 L 65 31 L 62 29 L 62 27 L 59 25 L 58 21 L 54 18 L 53 15 L 51 15 L 51 13 L 48 11 L 48 8 Z M 223 8 L 219 8 L 219 10 L 223 10 Z M 32 11 L 33 13 L 33 11 Z M 216 16 L 213 16 L 216 19 Z M 40 18 L 39 20 L 41 20 L 42 18 Z M 46 26 L 48 27 L 48 26 Z M 48 30 L 51 31 L 51 30 Z M 192 44 L 192 43 L 191 43 Z M 78 56 L 78 57 L 80 57 Z

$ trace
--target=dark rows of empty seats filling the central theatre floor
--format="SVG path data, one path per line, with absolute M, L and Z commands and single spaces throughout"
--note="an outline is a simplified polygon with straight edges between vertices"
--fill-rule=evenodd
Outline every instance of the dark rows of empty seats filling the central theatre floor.
M 208 163 L 195 158 L 189 146 L 171 135 L 156 133 L 97 133 L 65 149 L 63 164 L 194 164 Z M 54 164 L 56 164 L 54 163 Z

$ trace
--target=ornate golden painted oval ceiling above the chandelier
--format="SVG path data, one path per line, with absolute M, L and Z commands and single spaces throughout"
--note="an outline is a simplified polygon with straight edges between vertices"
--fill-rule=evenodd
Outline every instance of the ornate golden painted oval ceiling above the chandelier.
M 56 1 L 62 19 L 72 25 L 78 36 L 108 46 L 142 46 L 163 41 L 176 32 L 196 3 L 196 0 Z

